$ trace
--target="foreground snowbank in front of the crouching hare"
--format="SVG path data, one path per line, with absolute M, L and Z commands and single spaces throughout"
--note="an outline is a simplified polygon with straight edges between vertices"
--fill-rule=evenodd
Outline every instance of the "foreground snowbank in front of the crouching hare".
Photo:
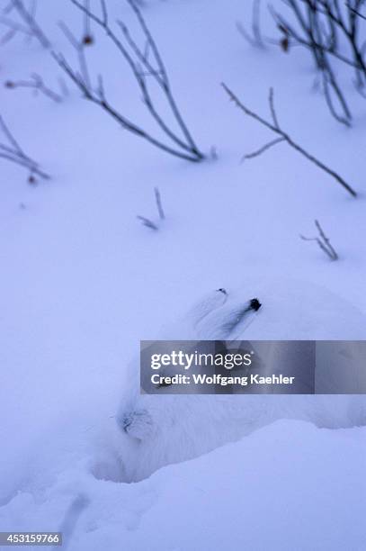
M 74 460 L 41 496 L 14 497 L 2 526 L 34 529 L 48 519 L 56 529 L 76 496 L 87 496 L 70 551 L 361 551 L 365 442 L 364 428 L 279 420 L 135 484 L 98 481 Z

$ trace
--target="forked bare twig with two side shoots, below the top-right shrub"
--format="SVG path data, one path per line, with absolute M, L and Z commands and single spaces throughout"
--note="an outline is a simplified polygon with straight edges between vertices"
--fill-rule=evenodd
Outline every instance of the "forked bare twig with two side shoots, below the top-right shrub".
M 329 176 L 332 176 L 337 182 L 338 184 L 342 185 L 344 187 L 344 189 L 347 190 L 347 192 L 349 194 L 352 194 L 353 197 L 356 197 L 357 194 L 356 192 L 354 191 L 354 189 L 351 187 L 351 185 L 347 184 L 345 181 L 344 181 L 344 178 L 342 178 L 341 176 L 339 176 L 332 168 L 329 168 L 327 167 L 324 163 L 322 163 L 321 161 L 319 161 L 316 157 L 314 157 L 313 155 L 311 155 L 310 153 L 308 153 L 308 151 L 304 148 L 302 148 L 297 142 L 295 142 L 294 140 L 292 140 L 292 138 L 290 138 L 289 134 L 285 131 L 283 131 L 281 129 L 281 126 L 280 126 L 280 123 L 278 121 L 278 118 L 277 118 L 277 114 L 276 114 L 276 111 L 275 111 L 275 108 L 274 108 L 274 100 L 273 100 L 273 90 L 271 88 L 270 90 L 270 95 L 269 95 L 269 105 L 270 105 L 270 110 L 271 110 L 271 117 L 272 117 L 272 122 L 268 122 L 266 121 L 265 119 L 263 119 L 263 117 L 261 117 L 260 115 L 254 113 L 253 111 L 251 111 L 250 109 L 248 109 L 245 104 L 243 104 L 238 98 L 237 98 L 237 95 L 235 95 L 229 88 L 228 86 L 226 86 L 225 84 L 222 84 L 222 86 L 224 87 L 225 91 L 227 92 L 229 98 L 237 105 L 237 107 L 239 109 L 241 109 L 241 111 L 243 111 L 246 115 L 248 115 L 249 117 L 252 117 L 255 121 L 257 122 L 260 122 L 263 126 L 265 126 L 266 128 L 268 128 L 269 130 L 271 130 L 272 132 L 274 132 L 275 134 L 277 134 L 279 136 L 279 138 L 276 138 L 275 140 L 272 140 L 272 141 L 269 141 L 268 143 L 266 143 L 262 148 L 260 149 L 257 149 L 256 151 L 254 151 L 253 153 L 249 153 L 249 154 L 246 154 L 244 156 L 244 159 L 245 158 L 254 158 L 254 157 L 258 157 L 259 155 L 261 155 L 264 151 L 266 151 L 267 149 L 270 149 L 272 148 L 273 146 L 281 143 L 281 142 L 285 142 L 287 143 L 292 149 L 295 149 L 296 151 L 298 151 L 303 157 L 305 158 L 308 158 L 309 161 L 311 161 L 314 165 L 316 165 L 318 168 L 321 168 L 322 170 L 324 170 L 326 172 L 326 174 L 328 174 Z

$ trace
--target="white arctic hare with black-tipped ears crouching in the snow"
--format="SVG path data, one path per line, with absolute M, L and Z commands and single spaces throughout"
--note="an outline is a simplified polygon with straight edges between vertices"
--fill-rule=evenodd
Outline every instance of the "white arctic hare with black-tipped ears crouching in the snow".
M 293 294 L 292 304 L 281 296 Z M 341 309 L 349 314 L 354 338 L 364 338 L 366 323 L 351 304 L 310 285 L 303 290 L 284 286 L 273 293 L 241 301 L 225 289 L 203 297 L 173 326 L 162 330 L 159 339 L 321 339 L 327 338 L 324 324 L 332 327 Z M 320 301 L 320 302 L 319 302 Z M 266 303 L 268 303 L 268 311 Z M 314 310 L 313 303 L 318 303 Z M 289 305 L 290 304 L 290 305 Z M 290 309 L 294 312 L 291 312 Z M 287 318 L 286 319 L 286 315 Z M 285 317 L 284 317 L 285 316 Z M 270 325 L 268 321 L 271 321 Z M 341 324 L 342 325 L 342 324 Z M 299 332 L 297 334 L 297 328 Z M 313 328 L 313 332 L 308 328 Z M 323 332 L 322 332 L 323 331 Z M 336 329 L 335 329 L 336 331 Z M 328 330 L 332 339 L 332 330 Z M 343 328 L 344 339 L 351 335 Z M 335 337 L 337 338 L 337 337 Z M 339 338 L 339 337 L 338 337 Z M 138 481 L 163 465 L 180 462 L 235 441 L 272 420 L 309 420 L 321 427 L 349 427 L 365 422 L 363 397 L 324 395 L 147 395 L 139 393 L 139 365 L 130 366 L 130 385 L 125 389 L 117 414 L 120 457 L 125 481 Z

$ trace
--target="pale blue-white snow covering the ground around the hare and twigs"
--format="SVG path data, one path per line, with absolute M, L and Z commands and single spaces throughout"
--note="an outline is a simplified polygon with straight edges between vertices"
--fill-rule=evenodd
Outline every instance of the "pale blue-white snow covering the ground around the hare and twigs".
M 305 50 L 255 50 L 236 32 L 237 20 L 249 26 L 250 4 L 142 8 L 192 135 L 205 152 L 214 146 L 217 160 L 189 164 L 153 149 L 68 82 L 61 104 L 0 87 L 5 122 L 52 176 L 34 187 L 21 168 L 1 164 L 1 529 L 70 526 L 76 502 L 76 525 L 66 529 L 77 551 L 364 548 L 364 428 L 276 420 L 121 483 L 114 416 L 138 341 L 168 335 L 162 326 L 169 338 L 186 338 L 183 312 L 211 290 L 263 303 L 245 339 L 365 339 L 364 100 L 339 68 L 353 128 L 335 122 L 312 88 Z M 128 5 L 108 5 L 111 18 L 135 24 Z M 78 32 L 75 8 L 40 2 L 39 17 L 55 50 L 75 59 L 57 26 L 65 20 Z M 275 32 L 265 17 L 263 25 Z M 103 71 L 123 113 L 151 129 L 128 68 L 93 32 L 94 78 Z M 36 41 L 17 36 L 1 54 L 2 81 L 38 72 L 58 90 L 60 72 Z M 272 136 L 228 101 L 221 82 L 263 114 L 273 86 L 283 127 L 359 197 L 283 144 L 240 163 Z M 157 231 L 136 219 L 157 221 L 155 186 L 166 215 Z M 314 234 L 315 219 L 339 261 L 299 239 Z M 332 405 L 334 428 L 360 420 L 344 425 L 337 396 L 327 404 L 318 425 L 329 426 Z M 220 444 L 238 438 L 221 436 Z

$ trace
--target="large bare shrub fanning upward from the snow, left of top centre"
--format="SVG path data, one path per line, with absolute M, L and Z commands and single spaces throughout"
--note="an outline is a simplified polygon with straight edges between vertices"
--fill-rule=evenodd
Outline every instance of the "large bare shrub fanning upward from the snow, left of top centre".
M 148 113 L 154 119 L 158 127 L 164 132 L 167 141 L 162 141 L 156 138 L 135 122 L 130 121 L 128 117 L 116 109 L 108 100 L 103 86 L 103 77 L 98 77 L 98 85 L 96 88 L 92 86 L 89 77 L 86 77 L 87 71 L 85 70 L 85 57 L 81 58 L 80 56 L 80 52 L 83 52 L 84 56 L 84 49 L 80 50 L 79 43 L 75 43 L 74 41 L 74 46 L 79 53 L 79 70 L 72 68 L 63 55 L 53 52 L 53 57 L 57 60 L 59 67 L 62 68 L 67 76 L 70 77 L 76 84 L 85 99 L 99 105 L 105 113 L 108 113 L 115 121 L 121 124 L 122 128 L 132 132 L 144 140 L 147 140 L 157 148 L 163 149 L 165 152 L 178 158 L 184 158 L 193 162 L 201 161 L 204 158 L 204 155 L 201 153 L 200 149 L 197 148 L 194 140 L 192 139 L 192 135 L 183 120 L 183 116 L 180 113 L 174 99 L 163 59 L 157 49 L 156 42 L 153 39 L 151 32 L 147 28 L 147 23 L 138 10 L 138 6 L 134 0 L 127 0 L 127 2 L 136 15 L 140 30 L 143 33 L 145 41 L 143 47 L 138 45 L 138 42 L 135 41 L 129 33 L 127 26 L 121 21 L 118 21 L 117 24 L 119 26 L 122 38 L 119 38 L 117 33 L 112 30 L 105 0 L 101 0 L 100 15 L 94 14 L 94 12 L 89 10 L 87 5 L 80 4 L 78 0 L 71 0 L 71 2 L 76 5 L 76 7 L 81 10 L 83 14 L 87 14 L 92 22 L 96 23 L 101 29 L 103 29 L 116 49 L 119 50 L 121 56 L 128 63 L 132 75 L 138 84 L 143 103 L 146 105 Z M 83 64 L 85 64 L 84 67 Z M 181 135 L 172 130 L 171 126 L 165 121 L 164 115 L 161 115 L 158 112 L 156 104 L 150 93 L 151 81 L 153 81 L 153 83 L 155 83 L 155 85 L 157 85 L 160 89 L 165 99 L 165 104 L 168 105 L 170 112 L 173 114 Z

